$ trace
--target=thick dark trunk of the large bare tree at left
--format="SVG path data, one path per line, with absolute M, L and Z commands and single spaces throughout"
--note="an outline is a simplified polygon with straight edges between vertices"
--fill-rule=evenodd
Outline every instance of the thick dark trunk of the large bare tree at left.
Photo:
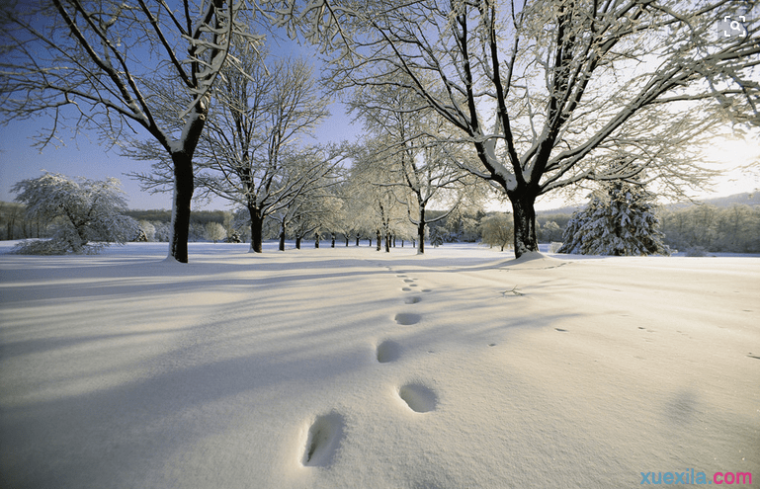
M 185 151 L 172 153 L 174 163 L 174 199 L 169 256 L 187 263 L 187 240 L 190 237 L 190 204 L 193 200 L 193 160 Z

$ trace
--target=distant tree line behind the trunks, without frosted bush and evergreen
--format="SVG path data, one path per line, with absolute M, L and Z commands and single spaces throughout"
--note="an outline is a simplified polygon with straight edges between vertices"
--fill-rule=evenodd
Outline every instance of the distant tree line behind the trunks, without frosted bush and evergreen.
M 728 203 L 727 203 L 728 204 Z M 283 216 L 268 217 L 263 225 L 263 238 L 300 240 L 306 238 L 327 242 L 327 246 L 363 245 L 378 246 L 377 225 L 371 216 L 357 220 L 356 213 L 347 213 L 348 205 L 336 199 L 332 206 L 312 209 L 310 215 L 302 215 L 301 222 L 288 221 L 283 231 Z M 404 209 L 405 210 L 405 209 Z M 169 240 L 171 211 L 126 210 L 136 231 L 130 241 Z M 388 234 L 381 233 L 381 240 L 388 240 L 388 247 L 415 245 L 417 230 L 409 223 L 404 212 L 397 212 L 388 223 Z M 748 204 L 712 205 L 695 204 L 688 207 L 659 208 L 660 232 L 663 243 L 673 252 L 702 253 L 760 253 L 760 205 Z M 435 220 L 444 216 L 443 219 Z M 427 226 L 426 240 L 434 237 L 440 243 L 481 242 L 491 247 L 509 249 L 513 241 L 513 220 L 509 213 L 485 212 L 483 210 L 429 210 L 433 220 Z M 542 243 L 557 243 L 572 215 L 569 213 L 541 213 L 536 219 L 538 239 Z M 352 223 L 348 220 L 353 219 Z M 309 221 L 310 220 L 310 221 Z M 309 221 L 307 223 L 307 221 Z M 55 227 L 36 216 L 29 216 L 24 204 L 0 202 L 0 240 L 49 238 Z M 304 233 L 306 229 L 308 233 Z M 223 233 L 223 234 L 220 234 Z M 191 217 L 190 241 L 250 240 L 250 218 L 246 209 L 232 211 L 194 211 Z M 432 244 L 432 243 L 431 243 Z

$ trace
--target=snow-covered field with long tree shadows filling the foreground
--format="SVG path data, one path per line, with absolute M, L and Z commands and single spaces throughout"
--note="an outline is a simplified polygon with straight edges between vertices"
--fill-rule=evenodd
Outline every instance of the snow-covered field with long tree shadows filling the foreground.
M 758 257 L 247 247 L 0 255 L 0 487 L 760 480 Z

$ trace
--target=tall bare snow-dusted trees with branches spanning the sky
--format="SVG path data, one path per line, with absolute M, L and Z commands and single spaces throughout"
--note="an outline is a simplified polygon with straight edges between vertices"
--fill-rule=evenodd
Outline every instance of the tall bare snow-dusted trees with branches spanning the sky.
M 446 190 L 469 178 L 510 202 L 519 257 L 538 250 L 538 196 L 644 175 L 681 194 L 709 177 L 695 154 L 718 122 L 759 124 L 760 17 L 747 5 L 10 2 L 0 16 L 0 111 L 53 115 L 44 146 L 73 108 L 78 128 L 160 161 L 145 177 L 171 181 L 169 254 L 180 262 L 196 183 L 248 209 L 260 251 L 266 215 L 298 213 L 299 198 L 329 206 L 325 189 L 349 158 L 357 179 L 378 191 L 378 235 L 388 234 L 391 201 L 404 202 L 424 230 L 426 206 L 458 201 Z M 739 16 L 743 36 L 719 35 L 724 19 Z M 310 82 L 299 88 L 307 77 L 297 65 L 264 68 L 254 32 L 264 25 L 320 50 L 322 81 L 367 124 L 367 144 L 349 153 L 297 141 L 326 111 Z M 142 131 L 136 141 L 126 131 L 133 127 Z

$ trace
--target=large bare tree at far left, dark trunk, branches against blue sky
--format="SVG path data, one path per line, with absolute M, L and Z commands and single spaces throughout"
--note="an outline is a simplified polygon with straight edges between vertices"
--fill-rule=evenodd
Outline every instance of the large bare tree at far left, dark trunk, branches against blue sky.
M 211 90 L 234 66 L 234 39 L 255 49 L 245 0 L 42 0 L 2 9 L 0 113 L 52 117 L 40 147 L 67 115 L 77 131 L 95 129 L 124 144 L 135 126 L 171 159 L 174 181 L 169 257 L 186 263 L 193 156 L 206 125 Z M 183 53 L 186 53 L 183 54 Z M 166 87 L 171 86 L 172 90 Z M 163 88 L 162 88 L 163 87 Z M 166 100 L 173 92 L 178 98 Z M 171 114 L 165 113 L 173 107 Z

